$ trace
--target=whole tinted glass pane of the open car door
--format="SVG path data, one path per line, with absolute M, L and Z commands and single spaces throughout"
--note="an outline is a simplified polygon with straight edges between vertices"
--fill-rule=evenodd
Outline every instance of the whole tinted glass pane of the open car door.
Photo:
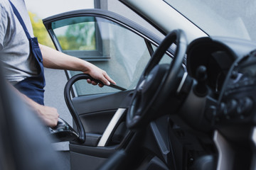
M 87 60 L 104 69 L 117 85 L 134 89 L 150 53 L 144 38 L 128 28 L 105 18 L 81 16 L 52 23 L 60 49 L 68 55 Z M 68 72 L 70 77 L 80 72 Z M 118 91 L 91 86 L 86 81 L 75 84 L 78 96 Z

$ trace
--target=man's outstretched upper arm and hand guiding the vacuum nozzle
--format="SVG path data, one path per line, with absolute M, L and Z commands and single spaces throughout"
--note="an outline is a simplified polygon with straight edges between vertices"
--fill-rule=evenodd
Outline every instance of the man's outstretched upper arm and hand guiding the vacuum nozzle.
M 90 62 L 85 60 L 80 60 L 77 57 L 72 57 L 70 55 L 65 55 L 63 52 L 58 52 L 45 45 L 39 45 L 42 55 L 43 55 L 43 66 L 51 69 L 68 69 L 73 71 L 81 71 L 86 74 L 90 74 L 94 79 L 99 79 L 105 85 L 110 85 L 110 82 L 115 84 L 115 82 L 107 75 L 107 73 L 96 67 Z M 87 80 L 88 83 L 96 85 L 94 81 Z M 104 84 L 99 84 L 103 86 Z

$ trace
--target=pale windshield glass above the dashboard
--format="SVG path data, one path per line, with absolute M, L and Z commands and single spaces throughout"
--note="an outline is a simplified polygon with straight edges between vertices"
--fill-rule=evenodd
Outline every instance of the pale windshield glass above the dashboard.
M 256 41 L 255 0 L 164 0 L 210 36 Z

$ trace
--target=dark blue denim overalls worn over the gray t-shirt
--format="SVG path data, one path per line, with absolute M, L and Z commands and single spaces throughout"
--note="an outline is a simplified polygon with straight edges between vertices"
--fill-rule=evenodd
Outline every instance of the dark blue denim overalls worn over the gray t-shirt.
M 10 1 L 10 0 L 9 0 Z M 23 22 L 23 19 L 21 18 L 21 15 L 18 13 L 18 10 L 14 6 L 14 4 L 11 3 L 11 7 L 14 10 L 14 13 L 16 17 L 18 18 L 18 21 L 21 23 L 21 26 L 23 27 L 23 30 L 26 33 L 26 36 L 29 40 L 29 44 L 31 47 L 31 54 L 33 57 L 36 58 L 36 68 L 38 69 L 38 75 L 36 77 L 28 77 L 24 79 L 23 81 L 18 82 L 16 85 L 16 89 L 20 91 L 22 94 L 25 94 L 29 98 L 31 98 L 33 101 L 36 101 L 37 103 L 43 105 L 43 94 L 44 94 L 44 86 L 46 86 L 46 81 L 43 74 L 43 57 L 41 54 L 41 50 L 38 46 L 38 40 L 37 38 L 31 38 L 31 35 L 29 35 L 28 30 L 25 26 L 25 23 Z

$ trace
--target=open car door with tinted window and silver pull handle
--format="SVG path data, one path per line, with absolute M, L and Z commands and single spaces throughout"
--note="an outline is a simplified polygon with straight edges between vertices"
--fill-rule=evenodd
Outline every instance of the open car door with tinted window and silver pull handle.
M 99 88 L 86 80 L 73 86 L 73 106 L 85 128 L 86 140 L 82 144 L 70 142 L 70 166 L 97 169 L 129 141 L 130 132 L 124 123 L 129 97 L 160 40 L 132 21 L 100 9 L 62 13 L 43 23 L 57 50 L 97 65 L 127 89 Z M 171 60 L 166 58 L 165 62 Z M 65 73 L 70 79 L 80 72 Z

